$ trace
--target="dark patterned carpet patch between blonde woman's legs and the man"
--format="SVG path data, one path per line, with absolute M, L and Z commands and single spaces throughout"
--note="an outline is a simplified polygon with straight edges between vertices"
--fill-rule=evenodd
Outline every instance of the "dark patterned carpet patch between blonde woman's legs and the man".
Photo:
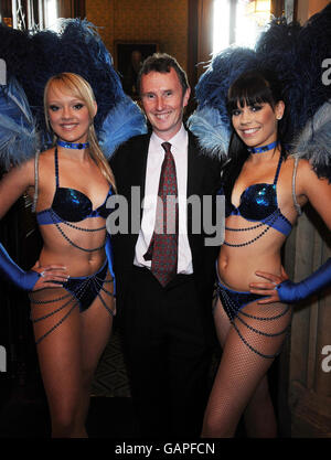
M 130 397 L 121 334 L 116 329 L 99 361 L 92 386 L 92 396 Z

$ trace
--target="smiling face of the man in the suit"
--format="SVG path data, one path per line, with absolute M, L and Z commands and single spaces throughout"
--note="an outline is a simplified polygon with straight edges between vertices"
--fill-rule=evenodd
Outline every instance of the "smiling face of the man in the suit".
M 141 77 L 141 100 L 153 131 L 168 141 L 181 128 L 183 108 L 188 105 L 190 88 L 183 93 L 173 67 L 170 72 L 150 72 Z

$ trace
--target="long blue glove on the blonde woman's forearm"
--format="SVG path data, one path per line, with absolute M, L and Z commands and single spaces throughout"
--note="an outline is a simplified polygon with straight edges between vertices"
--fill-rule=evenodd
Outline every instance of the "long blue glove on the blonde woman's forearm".
M 33 270 L 24 271 L 9 256 L 0 243 L 0 275 L 12 285 L 25 291 L 32 291 L 40 274 Z

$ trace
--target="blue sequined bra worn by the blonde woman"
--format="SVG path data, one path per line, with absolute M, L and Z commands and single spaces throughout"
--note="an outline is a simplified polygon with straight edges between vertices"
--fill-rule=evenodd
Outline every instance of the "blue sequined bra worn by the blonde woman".
M 89 197 L 83 192 L 75 189 L 60 186 L 57 148 L 55 148 L 54 160 L 56 190 L 51 207 L 36 213 L 36 221 L 39 225 L 81 222 L 89 217 L 107 218 L 111 212 L 111 210 L 106 207 L 108 197 L 113 195 L 111 185 L 104 203 L 96 210 L 93 210 L 93 204 Z

